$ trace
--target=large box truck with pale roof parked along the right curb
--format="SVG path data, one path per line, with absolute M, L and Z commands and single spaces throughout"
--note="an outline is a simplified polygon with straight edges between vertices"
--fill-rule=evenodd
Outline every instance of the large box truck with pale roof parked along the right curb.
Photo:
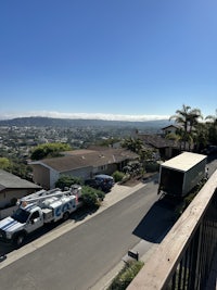
M 159 166 L 158 194 L 187 196 L 205 178 L 206 155 L 183 152 Z

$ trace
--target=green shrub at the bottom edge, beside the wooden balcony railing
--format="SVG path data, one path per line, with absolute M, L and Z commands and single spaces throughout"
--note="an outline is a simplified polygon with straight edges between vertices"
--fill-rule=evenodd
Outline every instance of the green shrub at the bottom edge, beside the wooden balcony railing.
M 137 276 L 143 264 L 144 263 L 141 261 L 131 261 L 127 263 L 113 279 L 107 290 L 125 290 Z

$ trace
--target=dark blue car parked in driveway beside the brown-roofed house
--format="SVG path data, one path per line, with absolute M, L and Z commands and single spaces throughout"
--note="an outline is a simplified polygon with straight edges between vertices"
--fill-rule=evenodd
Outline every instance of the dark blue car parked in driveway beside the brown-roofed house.
M 91 179 L 85 180 L 85 185 L 108 192 L 114 186 L 114 178 L 106 174 L 99 174 Z

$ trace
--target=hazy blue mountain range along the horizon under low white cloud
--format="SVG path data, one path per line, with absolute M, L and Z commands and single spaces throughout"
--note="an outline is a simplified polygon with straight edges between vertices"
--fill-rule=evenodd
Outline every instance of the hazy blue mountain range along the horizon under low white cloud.
M 17 127 L 136 127 L 136 128 L 163 128 L 171 123 L 168 119 L 128 122 L 128 121 L 104 121 L 104 119 L 74 119 L 51 117 L 17 117 L 1 119 L 0 126 Z

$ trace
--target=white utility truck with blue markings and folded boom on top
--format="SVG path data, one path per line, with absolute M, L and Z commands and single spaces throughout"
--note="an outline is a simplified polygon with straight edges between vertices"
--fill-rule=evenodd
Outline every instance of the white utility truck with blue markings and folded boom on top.
M 0 220 L 0 240 L 21 247 L 28 234 L 44 224 L 67 219 L 81 206 L 80 196 L 81 188 L 74 186 L 65 191 L 40 190 L 22 198 L 14 214 Z

